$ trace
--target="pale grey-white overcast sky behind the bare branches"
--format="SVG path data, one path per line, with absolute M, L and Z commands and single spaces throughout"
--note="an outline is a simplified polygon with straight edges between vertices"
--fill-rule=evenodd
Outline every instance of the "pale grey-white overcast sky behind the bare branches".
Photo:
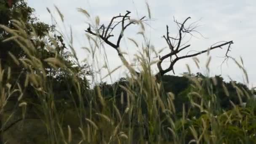
M 166 33 L 166 25 L 168 24 L 171 34 L 175 37 L 178 29 L 173 22 L 173 17 L 178 21 L 184 21 L 187 17 L 191 17 L 188 23 L 197 21 L 200 27 L 197 31 L 200 32 L 203 37 L 195 33 L 195 37 L 191 37 L 188 44 L 191 44 L 189 50 L 202 51 L 207 49 L 212 44 L 219 41 L 233 40 L 234 44 L 229 52 L 229 56 L 234 57 L 240 61 L 240 57 L 243 58 L 243 64 L 248 72 L 249 84 L 256 86 L 256 46 L 254 41 L 256 40 L 256 1 L 255 0 L 27 0 L 29 6 L 35 8 L 35 16 L 41 21 L 48 24 L 54 24 L 51 15 L 46 8 L 49 8 L 53 13 L 53 17 L 56 19 L 59 29 L 61 29 L 67 35 L 69 30 L 65 31 L 65 28 L 72 27 L 72 33 L 74 36 L 74 46 L 77 52 L 77 56 L 82 61 L 88 59 L 88 63 L 92 64 L 96 62 L 95 59 L 91 59 L 91 56 L 82 47 L 89 47 L 88 41 L 85 37 L 85 29 L 88 28 L 88 21 L 90 21 L 85 15 L 79 13 L 77 8 L 83 8 L 91 15 L 91 21 L 94 21 L 96 16 L 99 16 L 100 23 L 107 25 L 113 16 L 119 15 L 119 13 L 125 13 L 131 11 L 131 17 L 133 19 L 139 19 L 143 16 L 148 16 L 147 5 L 149 4 L 151 19 L 146 21 L 146 37 L 150 40 L 150 43 L 154 45 L 156 50 L 160 50 L 167 46 L 163 35 Z M 64 15 L 64 24 L 62 24 L 59 15 L 56 12 L 56 5 L 61 13 Z M 139 26 L 131 26 L 125 33 L 121 42 L 120 48 L 122 51 L 128 53 L 126 58 L 128 61 L 132 61 L 134 54 L 141 51 L 141 43 L 143 39 L 136 35 L 140 31 Z M 115 33 L 116 34 L 116 33 Z M 127 38 L 134 38 L 140 44 L 140 48 L 136 48 Z M 189 39 L 190 37 L 188 37 Z M 115 38 L 110 39 L 115 42 Z M 189 51 L 188 50 L 188 51 Z M 244 76 L 241 69 L 236 64 L 229 60 L 227 63 L 221 65 L 224 60 L 226 48 L 216 49 L 211 51 L 211 63 L 210 63 L 210 76 L 222 75 L 225 80 L 232 80 L 238 82 L 244 82 Z M 107 59 L 109 61 L 109 69 L 113 70 L 119 65 L 122 65 L 117 52 L 105 45 L 105 51 Z M 160 55 L 168 52 L 168 48 L 165 49 Z M 104 51 L 99 49 L 96 52 L 96 56 L 99 58 L 98 66 L 104 65 Z M 183 53 L 184 54 L 184 53 Z M 152 60 L 154 56 L 152 56 Z M 181 60 L 174 66 L 176 75 L 183 72 L 187 72 L 186 64 L 189 64 L 191 72 L 201 72 L 206 74 L 205 63 L 208 60 L 207 54 L 197 56 L 200 60 L 200 69 L 198 69 L 191 58 Z M 155 59 L 156 60 L 156 59 Z M 168 62 L 163 63 L 164 67 L 168 66 Z M 96 68 L 93 68 L 96 70 Z M 157 72 L 157 68 L 153 66 L 153 72 Z M 101 75 L 107 75 L 107 69 L 103 69 Z M 120 77 L 127 73 L 127 69 L 122 67 L 112 74 L 112 80 L 118 80 Z M 168 73 L 173 74 L 173 73 Z M 109 77 L 103 81 L 111 83 Z

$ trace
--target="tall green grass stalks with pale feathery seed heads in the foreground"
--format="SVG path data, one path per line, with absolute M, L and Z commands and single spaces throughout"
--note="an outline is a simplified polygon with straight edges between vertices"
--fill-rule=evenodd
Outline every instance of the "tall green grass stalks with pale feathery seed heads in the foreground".
M 96 17 L 94 22 L 87 11 L 83 9 L 79 9 L 79 11 L 91 19 L 89 21 L 91 26 L 93 26 L 93 23 L 95 23 L 94 27 L 99 26 L 99 17 Z M 61 12 L 59 10 L 58 12 L 61 18 L 63 18 Z M 218 83 L 214 83 L 214 79 L 212 79 L 213 83 L 209 80 L 202 85 L 199 79 L 187 75 L 193 82 L 189 91 L 184 92 L 184 95 L 190 100 L 189 106 L 183 104 L 182 111 L 177 111 L 176 104 L 173 102 L 177 96 L 171 92 L 165 93 L 163 84 L 157 81 L 152 74 L 152 65 L 156 61 L 150 61 L 148 57 L 149 51 L 155 50 L 149 48 L 150 45 L 146 38 L 144 39 L 144 47 L 141 48 L 141 52 L 135 55 L 141 68 L 140 76 L 135 73 L 132 65 L 128 64 L 127 61 L 123 61 L 123 65 L 129 70 L 129 75 L 127 75 L 128 83 L 117 85 L 117 87 L 122 89 L 122 93 L 114 92 L 114 95 L 109 99 L 109 97 L 102 93 L 99 85 L 96 85 L 96 88 L 93 90 L 83 89 L 83 85 L 77 80 L 74 72 L 68 69 L 65 64 L 61 63 L 58 56 L 49 57 L 44 60 L 38 58 L 35 45 L 29 40 L 29 37 L 36 37 L 36 32 L 27 34 L 24 31 L 27 27 L 22 21 L 13 20 L 12 22 L 16 26 L 15 30 L 3 25 L 0 27 L 13 35 L 13 37 L 5 41 L 15 41 L 27 54 L 27 57 L 24 59 L 18 59 L 11 55 L 16 64 L 26 69 L 27 76 L 24 81 L 17 82 L 17 86 L 10 85 L 8 79 L 11 78 L 11 67 L 9 69 L 2 69 L 0 67 L 0 112 L 3 113 L 8 98 L 14 92 L 18 91 L 20 94 L 18 99 L 19 107 L 23 108 L 23 116 L 25 118 L 27 105 L 33 103 L 24 101 L 22 97 L 25 88 L 31 85 L 38 99 L 38 103 L 35 104 L 39 109 L 37 115 L 40 116 L 40 120 L 47 131 L 45 143 L 256 143 L 256 117 L 253 101 L 251 101 L 251 107 L 242 107 L 243 101 L 240 101 L 240 105 L 235 105 L 230 101 L 233 108 L 224 111 L 218 104 L 216 94 L 213 93 L 213 85 L 219 85 Z M 141 25 L 143 28 L 143 24 Z M 143 29 L 141 34 L 144 37 L 146 35 Z M 61 35 L 67 37 L 64 33 Z M 49 37 L 51 36 L 49 35 Z M 66 39 L 66 41 L 69 42 L 69 48 L 77 59 L 74 47 L 72 46 L 72 39 L 71 35 L 70 39 Z M 97 61 L 94 52 L 96 48 L 100 47 L 101 43 L 99 43 L 96 37 L 89 35 L 88 40 L 90 47 L 87 50 L 92 56 L 92 59 Z M 133 42 L 136 43 L 135 40 Z M 47 48 L 49 51 L 54 51 L 54 45 L 47 45 Z M 72 85 L 75 88 L 75 91 L 70 90 L 70 93 L 67 93 L 73 101 L 72 107 L 69 107 L 69 110 L 72 109 L 72 113 L 69 113 L 70 115 L 67 115 L 67 109 L 66 111 L 61 111 L 56 107 L 58 101 L 54 97 L 53 86 L 50 84 L 51 80 L 49 80 L 43 68 L 43 61 L 46 61 L 56 69 L 67 69 L 72 76 L 72 80 L 67 83 L 67 85 Z M 248 76 L 243 64 L 239 64 L 237 61 L 235 62 L 243 70 L 248 82 Z M 78 59 L 77 63 L 79 63 Z M 109 69 L 107 65 L 105 65 L 105 68 Z M 95 65 L 94 67 L 97 68 L 98 66 Z M 109 70 L 107 77 L 112 75 L 114 71 Z M 5 75 L 7 79 L 3 80 Z M 24 89 L 19 85 L 24 85 Z M 221 83 L 220 85 L 223 84 Z M 243 89 L 237 87 L 235 84 L 233 86 L 236 88 L 237 98 L 240 100 L 241 97 L 251 99 L 252 93 L 245 94 Z M 117 87 L 113 87 L 113 91 L 117 91 Z M 229 96 L 225 85 L 223 85 L 223 88 L 226 95 Z M 77 99 L 75 96 L 78 97 L 78 103 L 75 100 Z M 177 115 L 177 113 L 181 115 Z M 74 119 L 75 124 L 68 123 L 65 119 L 67 117 Z

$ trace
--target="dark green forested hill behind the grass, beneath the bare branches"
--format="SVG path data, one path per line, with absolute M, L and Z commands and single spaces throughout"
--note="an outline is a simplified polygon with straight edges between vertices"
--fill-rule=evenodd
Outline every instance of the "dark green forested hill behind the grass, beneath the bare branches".
M 204 91 L 205 95 L 211 93 L 216 96 L 217 104 L 225 110 L 232 108 L 230 101 L 234 104 L 241 105 L 241 103 L 244 104 L 247 102 L 249 96 L 255 94 L 255 91 L 251 91 L 245 84 L 237 83 L 236 81 L 225 82 L 220 75 L 207 77 L 201 73 L 195 75 L 184 73 L 183 76 L 164 75 L 161 78 L 164 93 L 171 92 L 174 94 L 174 104 L 178 110 L 182 110 L 182 104 L 190 104 L 189 93 L 195 89 L 193 86 L 195 85 L 195 81 L 199 82 L 202 86 L 200 91 Z M 112 96 L 118 98 L 122 93 L 125 93 L 122 86 L 128 85 L 134 84 L 129 83 L 125 77 L 122 77 L 114 84 L 100 83 L 97 86 L 101 89 L 103 96 L 107 96 L 107 98 L 111 99 Z M 239 88 L 239 90 L 237 90 L 237 88 Z M 237 92 L 241 97 L 237 96 Z M 125 94 L 123 95 L 125 96 Z

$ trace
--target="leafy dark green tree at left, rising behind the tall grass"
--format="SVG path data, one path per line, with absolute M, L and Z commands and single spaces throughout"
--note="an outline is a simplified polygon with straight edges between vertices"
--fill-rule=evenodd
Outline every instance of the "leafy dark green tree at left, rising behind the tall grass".
M 22 64 L 17 63 L 21 63 L 21 60 L 23 59 L 29 59 L 29 55 L 24 51 L 17 40 L 14 38 L 9 39 L 10 37 L 13 37 L 13 34 L 3 29 L 3 27 L 8 27 L 9 29 L 18 31 L 19 26 L 17 27 L 17 23 L 24 24 L 24 27 L 26 27 L 26 29 L 24 29 L 25 33 L 34 33 L 33 37 L 27 37 L 28 41 L 30 40 L 29 43 L 32 43 L 31 46 L 35 47 L 35 51 L 29 51 L 29 53 L 33 53 L 33 55 L 39 58 L 42 62 L 47 75 L 47 80 L 49 80 L 48 83 L 52 83 L 56 97 L 60 96 L 57 95 L 59 94 L 59 91 L 68 89 L 67 85 L 65 85 L 65 80 L 71 78 L 70 70 L 75 74 L 75 77 L 77 77 L 77 80 L 83 86 L 82 88 L 88 88 L 88 80 L 85 77 L 86 75 L 91 74 L 91 71 L 88 70 L 88 65 L 80 65 L 76 63 L 74 56 L 66 50 L 66 45 L 61 36 L 54 35 L 53 37 L 49 37 L 48 34 L 55 31 L 55 26 L 39 21 L 39 19 L 33 16 L 34 12 L 35 10 L 29 7 L 25 0 L 4 0 L 0 2 L 0 74 L 3 74 L 3 71 L 5 71 L 6 74 L 9 69 L 11 69 L 11 76 L 4 75 L 3 80 L 0 80 L 0 93 L 5 93 L 5 84 L 8 84 L 12 90 L 23 90 L 22 93 L 27 95 L 27 97 L 23 96 L 22 99 L 37 98 L 35 97 L 36 92 L 33 85 L 18 85 L 19 83 L 24 83 L 24 81 L 26 81 L 29 69 Z M 54 48 L 53 51 L 47 49 L 49 45 Z M 53 67 L 47 61 L 44 61 L 44 59 L 55 56 L 66 66 L 65 68 Z M 37 74 L 41 73 L 40 70 L 32 65 L 30 65 L 29 68 L 34 70 Z M 67 95 L 67 92 L 65 94 Z M 13 109 L 11 109 L 13 111 L 18 109 L 18 105 L 21 102 L 21 100 L 18 99 L 19 95 L 19 92 L 13 92 L 12 96 L 6 99 L 8 101 L 15 101 L 16 104 L 13 106 Z M 1 99 L 0 104 L 0 144 L 3 143 L 3 132 L 20 121 L 17 120 L 9 126 L 2 125 L 2 116 L 6 111 L 2 100 L 3 99 Z

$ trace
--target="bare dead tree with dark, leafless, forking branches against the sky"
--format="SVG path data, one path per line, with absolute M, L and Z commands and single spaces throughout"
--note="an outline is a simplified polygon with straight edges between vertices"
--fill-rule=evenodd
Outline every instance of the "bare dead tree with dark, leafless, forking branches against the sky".
M 85 30 L 85 32 L 88 32 L 89 34 L 94 35 L 96 37 L 99 37 L 105 43 L 107 43 L 112 48 L 114 48 L 117 51 L 120 59 L 125 62 L 127 62 L 127 61 L 125 60 L 123 54 L 120 52 L 120 49 L 119 49 L 120 41 L 123 38 L 123 33 L 124 33 L 125 29 L 127 29 L 127 27 L 129 27 L 131 24 L 139 24 L 140 22 L 144 21 L 144 19 L 145 19 L 145 16 L 144 16 L 141 19 L 139 19 L 138 21 L 132 20 L 129 16 L 130 13 L 131 13 L 130 11 L 126 11 L 126 13 L 124 15 L 119 14 L 119 16 L 112 17 L 112 19 L 109 22 L 107 27 L 105 27 L 104 24 L 102 24 L 99 27 L 99 29 L 92 30 L 91 26 L 89 26 L 88 29 Z M 226 46 L 226 45 L 228 46 L 228 48 L 227 48 L 225 57 L 226 58 L 228 57 L 227 53 L 230 51 L 230 46 L 231 46 L 231 44 L 233 44 L 233 41 L 222 41 L 218 45 L 212 45 L 210 48 L 206 48 L 203 51 L 198 51 L 193 54 L 179 56 L 181 51 L 184 51 L 185 49 L 187 49 L 191 46 L 190 44 L 188 44 L 188 45 L 182 44 L 184 35 L 186 35 L 186 34 L 192 35 L 192 32 L 197 32 L 195 30 L 196 26 L 192 27 L 193 23 L 190 24 L 188 27 L 185 27 L 185 24 L 187 23 L 187 21 L 189 19 L 191 19 L 191 18 L 188 17 L 182 23 L 180 23 L 174 19 L 174 22 L 179 27 L 179 32 L 178 32 L 177 37 L 170 36 L 168 25 L 166 25 L 166 35 L 163 35 L 163 38 L 165 39 L 165 41 L 168 45 L 168 48 L 170 49 L 170 52 L 165 54 L 164 56 L 159 56 L 159 61 L 157 62 L 157 68 L 158 68 L 159 72 L 157 72 L 157 74 L 155 75 L 157 77 L 157 79 L 159 77 L 163 76 L 167 72 L 173 71 L 173 73 L 174 73 L 174 64 L 176 64 L 176 62 L 181 59 L 194 57 L 194 56 L 200 55 L 202 53 L 206 53 L 208 51 L 211 51 L 211 50 L 214 50 L 217 48 L 222 48 L 223 46 Z M 115 29 L 117 27 L 117 25 L 120 25 L 120 24 L 121 24 L 121 29 L 120 29 L 120 33 L 118 35 L 117 42 L 116 43 L 110 42 L 109 37 L 114 37 L 114 35 L 112 34 L 113 29 Z M 165 59 L 169 59 L 170 64 L 169 64 L 168 68 L 163 69 L 162 63 Z

